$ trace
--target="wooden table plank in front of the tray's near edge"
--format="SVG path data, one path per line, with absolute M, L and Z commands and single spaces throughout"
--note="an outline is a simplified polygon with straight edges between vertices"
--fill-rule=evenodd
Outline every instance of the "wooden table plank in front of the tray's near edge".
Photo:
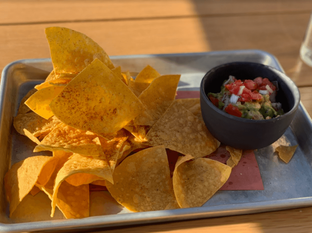
M 206 218 L 193 221 L 176 221 L 161 224 L 141 225 L 133 227 L 112 227 L 94 233 L 190 233 L 190 232 L 311 232 L 312 207 L 286 211 L 266 212 L 241 216 Z

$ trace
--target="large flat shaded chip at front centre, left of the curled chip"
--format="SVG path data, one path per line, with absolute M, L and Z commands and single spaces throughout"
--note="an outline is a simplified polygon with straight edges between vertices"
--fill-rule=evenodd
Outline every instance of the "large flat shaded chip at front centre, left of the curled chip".
M 115 168 L 114 184 L 106 182 L 118 203 L 134 212 L 178 208 L 164 146 L 141 150 Z

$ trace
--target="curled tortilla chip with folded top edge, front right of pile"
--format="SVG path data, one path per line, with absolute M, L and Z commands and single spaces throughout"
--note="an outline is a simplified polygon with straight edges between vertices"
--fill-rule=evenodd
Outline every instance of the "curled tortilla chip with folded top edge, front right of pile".
M 216 160 L 180 157 L 173 172 L 173 188 L 181 208 L 200 207 L 227 181 L 232 168 Z

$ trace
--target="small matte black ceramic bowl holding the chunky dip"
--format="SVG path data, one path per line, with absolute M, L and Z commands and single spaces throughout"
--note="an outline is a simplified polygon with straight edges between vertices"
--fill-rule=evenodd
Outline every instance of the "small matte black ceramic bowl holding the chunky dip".
M 277 81 L 276 102 L 282 104 L 284 115 L 269 120 L 251 120 L 223 112 L 208 99 L 207 93 L 219 93 L 229 75 L 237 79 L 268 78 Z M 299 89 L 284 73 L 270 66 L 252 62 L 233 62 L 217 66 L 204 76 L 200 84 L 202 117 L 221 143 L 237 149 L 260 149 L 278 140 L 290 125 L 300 102 Z

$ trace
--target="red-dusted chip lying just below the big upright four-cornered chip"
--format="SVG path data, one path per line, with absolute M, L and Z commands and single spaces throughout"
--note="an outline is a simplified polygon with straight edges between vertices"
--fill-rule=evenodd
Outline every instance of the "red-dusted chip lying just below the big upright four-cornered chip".
M 35 147 L 34 152 L 63 150 L 81 155 L 99 156 L 101 149 L 93 141 L 95 137 L 95 135 L 87 135 L 86 131 L 60 124 Z

